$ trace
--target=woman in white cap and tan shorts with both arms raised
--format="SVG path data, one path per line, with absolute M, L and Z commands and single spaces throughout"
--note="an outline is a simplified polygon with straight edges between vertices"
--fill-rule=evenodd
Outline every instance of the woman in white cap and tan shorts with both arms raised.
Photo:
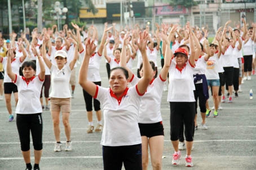
M 61 142 L 60 142 L 60 111 L 62 113 L 62 120 L 65 129 L 65 135 L 67 138 L 67 142 L 65 145 L 65 151 L 72 150 L 70 133 L 71 128 L 69 124 L 69 115 L 71 111 L 71 101 L 72 97 L 69 90 L 69 80 L 71 76 L 71 71 L 76 64 L 78 59 L 78 48 L 77 42 L 72 39 L 72 42 L 75 46 L 74 49 L 74 58 L 70 61 L 69 65 L 67 63 L 67 52 L 63 50 L 58 50 L 55 52 L 54 59 L 56 65 L 52 64 L 52 62 L 46 57 L 46 43 L 49 39 L 46 39 L 43 42 L 42 46 L 42 56 L 45 60 L 47 67 L 51 71 L 51 93 L 50 93 L 50 102 L 51 102 L 51 116 L 52 122 L 54 123 L 54 135 L 55 135 L 55 147 L 54 151 L 61 151 Z

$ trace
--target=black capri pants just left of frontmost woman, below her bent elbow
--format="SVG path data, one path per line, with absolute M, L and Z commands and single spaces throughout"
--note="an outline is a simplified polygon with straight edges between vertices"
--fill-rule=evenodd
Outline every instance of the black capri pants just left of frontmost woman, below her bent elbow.
M 101 86 L 101 82 L 94 82 L 94 84 Z M 92 96 L 83 90 L 83 99 L 85 99 L 86 111 L 92 111 Z M 94 110 L 100 110 L 100 102 L 99 100 L 94 100 Z

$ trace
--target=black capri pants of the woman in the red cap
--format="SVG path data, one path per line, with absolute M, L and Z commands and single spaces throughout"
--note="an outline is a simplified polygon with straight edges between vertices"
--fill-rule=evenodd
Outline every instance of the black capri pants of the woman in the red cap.
M 186 141 L 193 141 L 196 114 L 195 102 L 170 102 L 170 114 L 171 141 L 178 140 L 182 123 L 185 126 Z

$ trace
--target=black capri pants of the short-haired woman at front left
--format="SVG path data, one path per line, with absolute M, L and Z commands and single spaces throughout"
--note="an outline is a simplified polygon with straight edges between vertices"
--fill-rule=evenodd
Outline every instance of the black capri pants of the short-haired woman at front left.
M 17 114 L 16 125 L 22 151 L 28 151 L 30 149 L 30 131 L 34 150 L 43 149 L 43 120 L 41 113 Z

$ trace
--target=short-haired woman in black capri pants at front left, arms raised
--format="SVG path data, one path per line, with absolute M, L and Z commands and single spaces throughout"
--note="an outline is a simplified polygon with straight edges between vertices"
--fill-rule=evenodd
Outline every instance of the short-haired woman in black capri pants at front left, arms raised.
M 30 131 L 34 146 L 34 170 L 39 170 L 39 162 L 42 155 L 43 142 L 43 122 L 42 107 L 40 103 L 40 92 L 43 81 L 45 80 L 45 66 L 41 56 L 38 57 L 41 68 L 38 76 L 36 75 L 36 64 L 33 61 L 25 61 L 21 66 L 24 76 L 20 76 L 12 71 L 11 54 L 13 49 L 8 52 L 7 74 L 8 77 L 17 85 L 19 100 L 16 106 L 16 124 L 19 132 L 21 152 L 28 170 L 32 169 L 30 163 Z M 19 168 L 20 169 L 20 168 Z

